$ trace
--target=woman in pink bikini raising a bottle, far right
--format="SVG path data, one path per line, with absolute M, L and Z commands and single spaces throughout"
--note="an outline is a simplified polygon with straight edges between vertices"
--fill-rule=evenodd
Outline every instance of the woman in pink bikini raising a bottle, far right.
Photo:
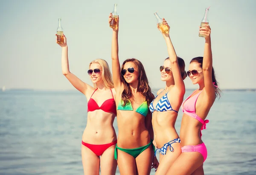
M 206 35 L 204 57 L 193 58 L 187 72 L 192 83 L 199 85 L 199 89 L 181 104 L 181 154 L 167 175 L 204 175 L 203 163 L 207 158 L 207 148 L 201 140 L 201 130 L 206 129 L 209 121 L 205 119 L 215 98 L 220 96 L 220 90 L 212 68 L 211 28 L 204 25 L 200 27 L 199 33 Z

